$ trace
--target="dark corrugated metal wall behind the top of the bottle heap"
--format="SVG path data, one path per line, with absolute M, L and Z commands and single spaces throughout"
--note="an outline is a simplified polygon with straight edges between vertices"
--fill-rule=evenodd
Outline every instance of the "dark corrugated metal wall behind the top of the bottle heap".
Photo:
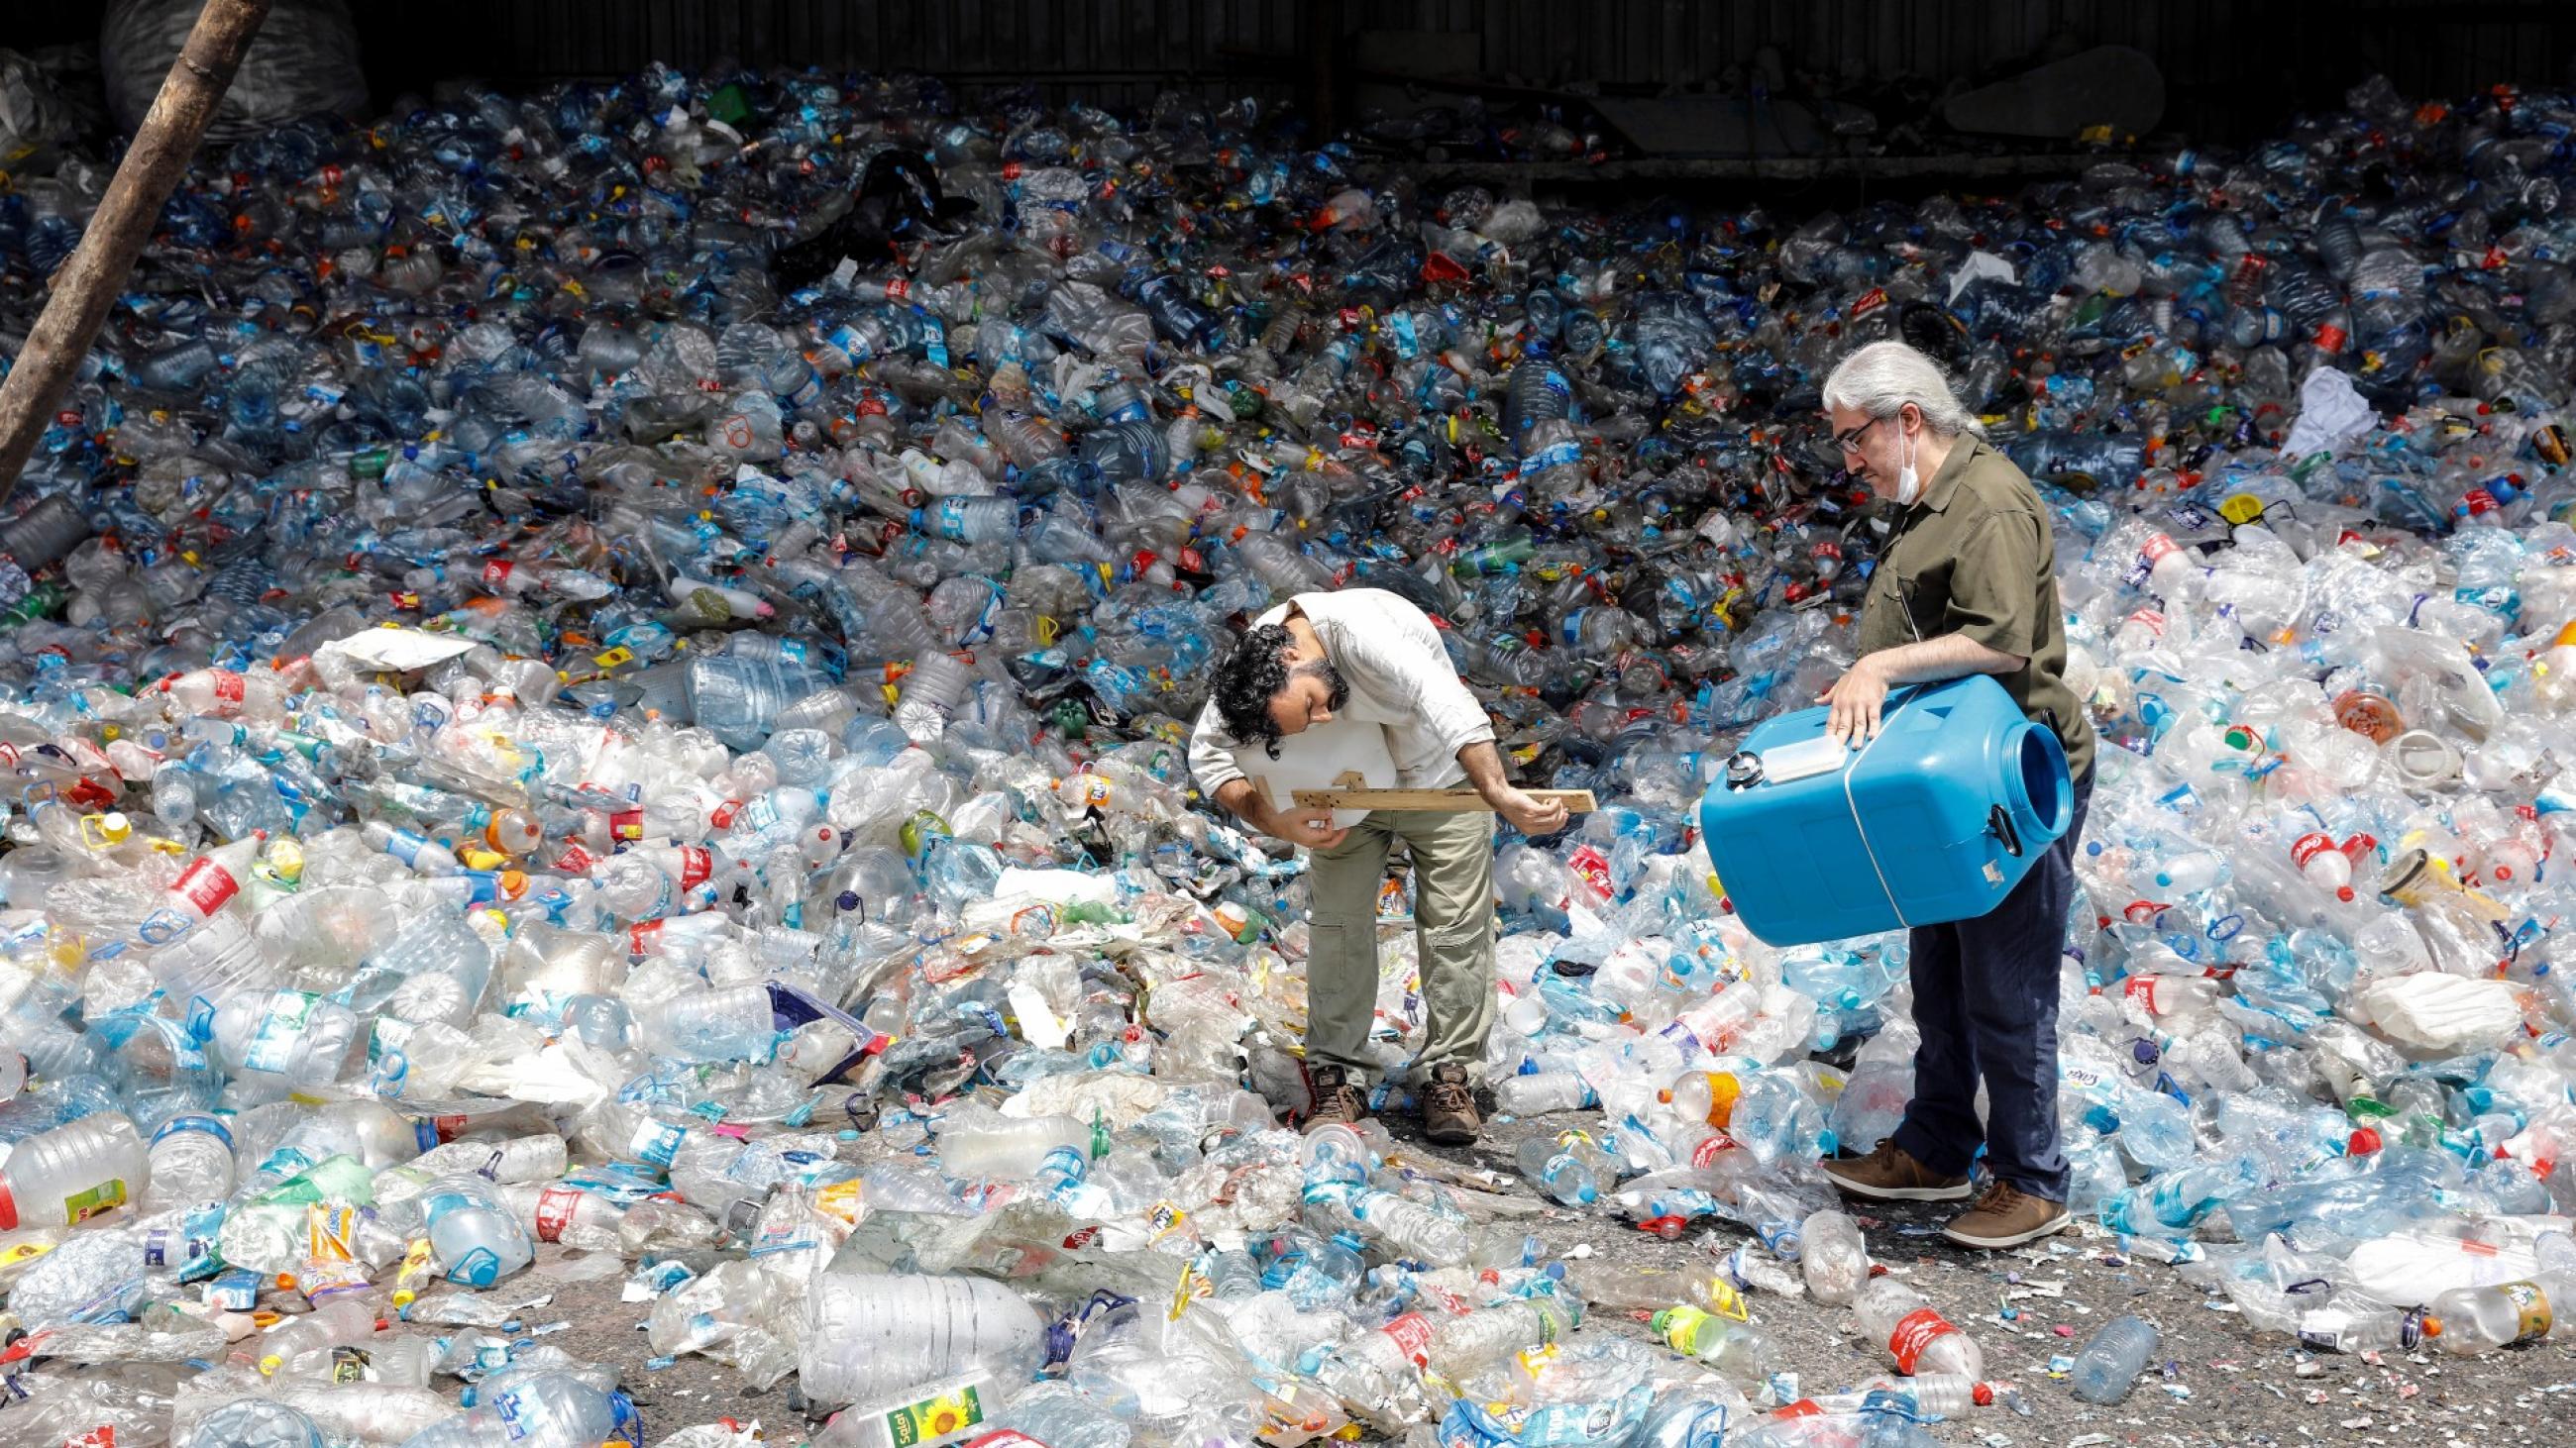
M 10 46 L 95 33 L 95 8 L 15 5 Z M 1301 0 L 350 0 L 384 98 L 443 77 L 533 82 L 665 59 L 925 70 L 963 95 L 1038 85 L 1103 106 L 1162 90 L 1291 100 Z M 2130 44 L 2166 75 L 2166 124 L 2269 134 L 2388 72 L 2409 95 L 2576 80 L 2576 0 L 1342 0 L 1347 31 L 1473 36 L 1489 77 L 1674 85 L 1759 46 L 1850 80 L 1932 82 L 2048 36 Z M 1267 59 L 1265 59 L 1267 57 Z

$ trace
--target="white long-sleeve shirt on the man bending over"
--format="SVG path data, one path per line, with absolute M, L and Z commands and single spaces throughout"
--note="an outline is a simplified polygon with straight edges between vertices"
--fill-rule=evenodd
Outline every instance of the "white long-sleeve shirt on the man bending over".
M 1466 781 L 1458 750 L 1492 745 L 1494 721 L 1458 678 L 1440 629 L 1430 616 L 1383 587 L 1345 587 L 1340 593 L 1298 593 L 1260 624 L 1283 624 L 1296 608 L 1324 642 L 1324 660 L 1342 670 L 1350 703 L 1321 729 L 1376 724 L 1386 729 L 1386 752 L 1396 760 L 1399 788 L 1448 788 Z M 1190 732 L 1190 776 L 1198 791 L 1216 799 L 1226 781 L 1244 778 L 1234 768 L 1234 734 L 1211 698 Z

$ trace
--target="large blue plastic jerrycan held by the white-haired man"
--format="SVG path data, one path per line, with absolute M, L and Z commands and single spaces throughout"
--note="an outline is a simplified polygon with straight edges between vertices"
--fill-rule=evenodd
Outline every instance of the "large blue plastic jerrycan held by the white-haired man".
M 1759 724 L 1700 799 L 1708 863 L 1772 946 L 1986 915 L 2066 832 L 2053 729 L 1986 675 L 1901 688 L 1862 747 L 1824 709 Z

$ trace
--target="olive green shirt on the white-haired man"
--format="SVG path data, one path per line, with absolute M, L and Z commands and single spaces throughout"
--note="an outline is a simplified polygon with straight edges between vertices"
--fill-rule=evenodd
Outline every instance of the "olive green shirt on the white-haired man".
M 2012 459 L 1958 438 L 1914 508 L 1896 508 L 1860 611 L 1860 652 L 1965 634 L 2022 667 L 1994 675 L 2032 724 L 2056 729 L 2066 770 L 2092 778 L 2092 719 L 2066 688 L 2066 605 L 2058 603 L 2048 508 Z

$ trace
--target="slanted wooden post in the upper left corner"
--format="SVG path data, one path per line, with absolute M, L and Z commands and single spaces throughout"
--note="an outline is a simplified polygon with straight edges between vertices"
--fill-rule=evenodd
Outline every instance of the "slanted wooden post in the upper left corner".
M 206 0 L 188 31 L 188 44 L 178 52 L 178 64 L 162 80 L 152 111 L 134 131 L 126 160 L 116 167 L 116 180 L 98 201 L 98 214 L 80 234 L 72 260 L 54 273 L 52 296 L 44 314 L 26 335 L 26 348 L 10 363 L 8 381 L 0 381 L 0 502 L 18 490 L 36 438 L 44 435 L 54 407 L 62 405 L 64 386 L 80 371 L 80 358 L 98 340 L 108 307 L 124 289 L 134 258 L 152 240 L 160 209 L 170 201 L 170 188 L 188 170 L 196 142 L 206 134 L 216 103 L 232 85 L 232 72 L 242 67 L 250 36 L 268 18 L 268 0 Z

